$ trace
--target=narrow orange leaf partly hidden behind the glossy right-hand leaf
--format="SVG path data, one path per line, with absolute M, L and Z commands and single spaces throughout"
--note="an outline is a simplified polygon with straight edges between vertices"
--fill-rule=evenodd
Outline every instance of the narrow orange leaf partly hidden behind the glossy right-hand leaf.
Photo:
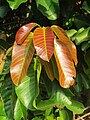
M 71 53 L 71 57 L 75 62 L 75 65 L 77 65 L 78 61 L 77 61 L 76 47 L 74 43 L 71 40 L 69 40 L 65 31 L 59 26 L 53 25 L 51 28 L 55 32 L 56 36 L 68 46 L 69 51 Z

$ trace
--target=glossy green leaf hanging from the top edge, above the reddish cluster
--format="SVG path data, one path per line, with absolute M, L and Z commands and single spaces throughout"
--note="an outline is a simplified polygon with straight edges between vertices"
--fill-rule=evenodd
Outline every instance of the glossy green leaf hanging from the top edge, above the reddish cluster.
M 56 20 L 59 17 L 59 0 L 36 0 L 37 8 L 50 20 Z

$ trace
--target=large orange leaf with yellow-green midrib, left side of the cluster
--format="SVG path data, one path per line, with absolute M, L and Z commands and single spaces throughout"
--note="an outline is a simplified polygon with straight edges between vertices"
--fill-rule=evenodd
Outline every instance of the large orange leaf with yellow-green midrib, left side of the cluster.
M 34 46 L 31 36 L 32 35 L 29 34 L 22 45 L 17 45 L 16 42 L 14 42 L 10 73 L 15 85 L 18 85 L 26 76 L 29 64 L 34 54 Z

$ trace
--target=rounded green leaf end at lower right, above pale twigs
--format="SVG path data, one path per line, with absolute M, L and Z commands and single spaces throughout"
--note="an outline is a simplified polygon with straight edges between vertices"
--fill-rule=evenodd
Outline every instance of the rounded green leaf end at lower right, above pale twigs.
M 71 102 L 72 104 L 66 105 L 67 109 L 71 110 L 72 112 L 76 114 L 81 114 L 84 112 L 84 106 L 82 103 L 75 101 L 75 100 L 71 100 Z

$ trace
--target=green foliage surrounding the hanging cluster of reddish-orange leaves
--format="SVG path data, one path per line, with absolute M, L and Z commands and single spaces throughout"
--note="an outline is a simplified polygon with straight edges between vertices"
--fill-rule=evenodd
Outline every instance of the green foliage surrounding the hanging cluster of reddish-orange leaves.
M 61 26 L 66 29 L 69 39 L 76 44 L 78 65 L 75 84 L 72 87 L 60 87 L 54 56 L 50 61 L 54 81 L 50 81 L 36 52 L 21 84 L 15 86 L 12 83 L 11 52 L 6 53 L 8 48 L 13 46 L 18 29 L 30 22 L 41 26 Z M 2 58 L 0 51 L 0 65 L 4 63 L 0 73 L 0 120 L 73 120 L 73 114 L 77 118 L 78 114 L 84 114 L 84 106 L 90 105 L 90 97 L 87 94 L 88 92 L 90 95 L 89 26 L 89 0 L 0 1 L 0 49 L 4 52 Z

